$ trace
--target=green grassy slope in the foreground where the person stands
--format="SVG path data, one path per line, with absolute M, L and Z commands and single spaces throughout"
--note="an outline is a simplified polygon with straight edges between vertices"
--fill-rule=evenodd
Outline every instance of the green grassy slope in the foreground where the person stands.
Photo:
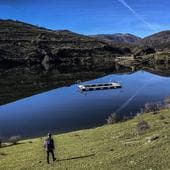
M 150 129 L 139 135 L 136 124 L 141 120 L 147 121 Z M 148 137 L 155 135 L 156 139 L 148 141 Z M 143 114 L 133 120 L 114 125 L 56 135 L 53 138 L 58 161 L 49 165 L 46 163 L 43 139 L 37 138 L 0 148 L 0 170 L 170 169 L 168 110 L 156 115 Z

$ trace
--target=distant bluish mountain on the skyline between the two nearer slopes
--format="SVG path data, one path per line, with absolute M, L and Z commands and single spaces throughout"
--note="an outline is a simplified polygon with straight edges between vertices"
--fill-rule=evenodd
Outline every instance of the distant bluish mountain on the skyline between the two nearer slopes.
M 137 37 L 132 34 L 97 34 L 92 35 L 91 37 L 94 37 L 98 40 L 103 40 L 106 42 L 113 42 L 113 43 L 135 43 L 139 41 L 141 38 Z

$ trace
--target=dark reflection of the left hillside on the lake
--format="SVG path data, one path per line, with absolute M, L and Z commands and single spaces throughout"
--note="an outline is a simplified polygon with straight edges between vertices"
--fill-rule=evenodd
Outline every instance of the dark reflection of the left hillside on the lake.
M 131 72 L 131 68 L 109 66 L 53 66 L 47 70 L 42 66 L 0 67 L 0 105 L 57 87 L 86 81 L 110 73 Z

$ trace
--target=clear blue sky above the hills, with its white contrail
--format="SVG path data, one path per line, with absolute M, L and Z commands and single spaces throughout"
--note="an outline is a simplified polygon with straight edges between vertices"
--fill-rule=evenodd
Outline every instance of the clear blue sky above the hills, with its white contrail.
M 0 0 L 0 18 L 85 35 L 170 30 L 169 0 Z

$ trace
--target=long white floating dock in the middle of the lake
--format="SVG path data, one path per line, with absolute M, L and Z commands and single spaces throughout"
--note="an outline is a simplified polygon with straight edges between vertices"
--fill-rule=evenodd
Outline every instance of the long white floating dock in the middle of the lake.
M 116 82 L 78 85 L 81 91 L 117 89 L 121 87 L 121 84 Z

